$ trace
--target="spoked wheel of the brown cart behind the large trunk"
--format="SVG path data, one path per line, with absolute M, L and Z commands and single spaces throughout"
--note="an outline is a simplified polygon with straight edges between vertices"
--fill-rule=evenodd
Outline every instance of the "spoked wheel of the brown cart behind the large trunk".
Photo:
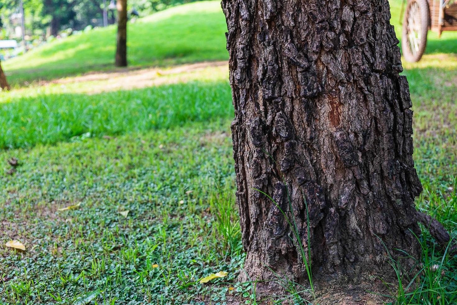
M 402 52 L 404 59 L 416 62 L 422 57 L 427 44 L 429 26 L 427 0 L 409 0 L 403 19 Z

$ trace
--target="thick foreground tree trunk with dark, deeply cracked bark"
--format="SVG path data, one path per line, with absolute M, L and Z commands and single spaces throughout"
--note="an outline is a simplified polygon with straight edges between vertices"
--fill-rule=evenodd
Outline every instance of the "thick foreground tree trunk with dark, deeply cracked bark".
M 309 251 L 319 304 L 370 302 L 376 276 L 395 283 L 389 255 L 420 255 L 412 104 L 388 0 L 222 6 L 244 269 L 308 283 Z

